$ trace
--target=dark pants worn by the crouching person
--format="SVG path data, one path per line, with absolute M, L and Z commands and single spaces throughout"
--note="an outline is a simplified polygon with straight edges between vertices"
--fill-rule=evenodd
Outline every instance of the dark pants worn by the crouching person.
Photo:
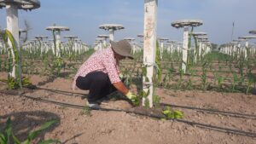
M 89 102 L 96 102 L 117 90 L 104 72 L 90 72 L 85 77 L 79 76 L 76 85 L 79 89 L 89 90 Z

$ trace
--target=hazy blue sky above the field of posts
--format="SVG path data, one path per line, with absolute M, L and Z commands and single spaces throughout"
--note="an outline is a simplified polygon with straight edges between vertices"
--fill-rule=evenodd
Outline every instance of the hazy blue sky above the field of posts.
M 92 44 L 97 35 L 108 34 L 98 27 L 114 23 L 125 26 L 115 32 L 114 40 L 143 34 L 143 0 L 40 0 L 41 7 L 32 11 L 19 10 L 19 25 L 27 20 L 34 36 L 51 37 L 47 26 L 68 26 L 69 32 L 61 36 L 78 36 L 84 43 Z M 182 41 L 183 29 L 171 23 L 176 20 L 203 20 L 195 32 L 207 32 L 212 43 L 229 43 L 234 22 L 233 39 L 247 36 L 256 30 L 256 0 L 158 0 L 157 36 Z M 6 9 L 0 9 L 0 28 L 6 27 Z M 252 43 L 256 42 L 255 40 Z

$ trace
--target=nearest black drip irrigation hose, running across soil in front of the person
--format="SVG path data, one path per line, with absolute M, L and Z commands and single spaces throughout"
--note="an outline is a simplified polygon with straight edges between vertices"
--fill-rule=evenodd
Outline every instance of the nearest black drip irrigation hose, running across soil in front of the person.
M 9 94 L 7 92 L 2 92 L 2 94 L 6 94 L 6 95 L 13 95 L 13 94 Z M 73 104 L 68 104 L 68 103 L 63 103 L 63 102 L 59 102 L 59 101 L 49 101 L 49 100 L 44 100 L 41 98 L 36 98 L 36 97 L 32 97 L 32 96 L 28 96 L 28 95 L 24 95 L 23 94 L 16 94 L 18 96 L 22 96 L 22 97 L 26 97 L 27 99 L 31 99 L 33 101 L 41 101 L 41 102 L 45 102 L 45 103 L 53 103 L 56 105 L 60 105 L 60 106 L 65 106 L 65 107 L 73 107 L 73 108 L 78 108 L 78 109 L 84 109 L 84 106 L 79 106 L 79 105 L 73 105 Z M 173 105 L 174 106 L 174 105 Z M 132 111 L 125 111 L 125 110 L 118 110 L 118 109 L 110 109 L 110 108 L 90 108 L 92 110 L 96 110 L 96 111 L 113 111 L 113 112 L 126 112 L 126 113 L 133 113 L 133 114 L 137 114 L 139 116 L 144 116 L 144 117 L 149 117 L 149 118 L 157 118 L 157 119 L 161 119 L 164 117 L 160 117 L 151 113 L 143 113 L 143 112 L 132 112 Z M 196 122 L 191 122 L 188 120 L 183 120 L 183 119 L 177 119 L 177 118 L 168 118 L 167 120 L 170 121 L 176 121 L 176 122 L 180 122 L 180 123 L 184 123 L 184 124 L 190 124 L 202 129 L 208 129 L 208 130 L 216 130 L 219 132 L 224 132 L 224 133 L 229 133 L 229 134 L 233 134 L 233 135 L 244 135 L 244 136 L 248 136 L 248 137 L 256 137 L 256 133 L 253 132 L 247 132 L 247 131 L 242 131 L 242 130 L 234 130 L 234 129 L 230 129 L 230 128 L 223 128 L 223 127 L 218 127 L 218 126 L 214 126 L 214 125 L 210 125 L 210 124 L 201 124 L 201 123 L 196 123 Z

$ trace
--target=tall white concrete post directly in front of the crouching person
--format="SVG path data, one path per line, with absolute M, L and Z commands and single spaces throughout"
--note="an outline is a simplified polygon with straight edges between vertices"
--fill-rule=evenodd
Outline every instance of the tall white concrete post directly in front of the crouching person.
M 147 66 L 147 78 L 143 77 L 143 90 L 146 92 L 149 90 L 149 107 L 153 107 L 152 79 L 155 63 L 157 3 L 158 0 L 144 0 L 143 64 Z M 145 101 L 146 99 L 143 98 L 143 106 L 145 106 Z

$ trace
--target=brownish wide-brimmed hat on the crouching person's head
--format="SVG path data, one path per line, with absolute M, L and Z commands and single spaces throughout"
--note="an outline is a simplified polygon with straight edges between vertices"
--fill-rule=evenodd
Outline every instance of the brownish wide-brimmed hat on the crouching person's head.
M 113 42 L 110 40 L 110 44 L 113 51 L 118 55 L 122 55 L 130 59 L 133 59 L 133 56 L 131 55 L 131 44 L 126 40 L 123 39 L 118 42 Z

